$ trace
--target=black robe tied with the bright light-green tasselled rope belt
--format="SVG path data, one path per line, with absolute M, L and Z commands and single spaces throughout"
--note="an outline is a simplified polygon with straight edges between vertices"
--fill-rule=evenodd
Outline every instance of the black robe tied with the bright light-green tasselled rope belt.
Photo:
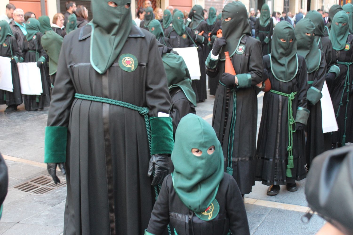
M 307 72 L 305 59 L 298 55 L 298 73 L 288 82 L 277 80 L 271 72 L 270 57 L 263 57 L 264 69 L 268 71 L 271 89 L 290 94 L 298 92 L 292 101 L 293 117 L 298 107 L 307 108 Z M 294 128 L 294 125 L 293 125 Z M 288 97 L 266 92 L 263 98 L 262 116 L 257 138 L 256 180 L 265 185 L 284 185 L 306 177 L 304 130 L 293 132 L 292 178 L 286 177 L 288 164 Z

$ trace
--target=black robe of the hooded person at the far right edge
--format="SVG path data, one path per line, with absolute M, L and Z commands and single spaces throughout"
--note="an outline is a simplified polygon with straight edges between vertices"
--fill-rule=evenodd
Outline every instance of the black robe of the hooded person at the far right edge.
M 353 35 L 349 35 L 347 39 L 347 45 L 349 46 L 348 50 L 340 50 L 336 51 L 336 60 L 341 62 L 353 62 Z M 346 104 L 347 104 L 347 92 L 343 92 L 343 85 L 345 84 L 346 75 L 348 67 L 339 64 L 340 67 L 340 75 L 332 82 L 332 86 L 330 86 L 330 95 L 332 104 L 334 106 L 335 113 L 339 108 L 341 97 L 342 97 L 342 106 L 339 111 L 339 117 L 336 118 L 338 124 L 338 131 L 332 133 L 332 143 L 341 143 L 342 136 L 344 134 L 345 129 L 345 114 L 346 114 Z M 353 92 L 352 92 L 352 82 L 353 82 L 353 64 L 349 65 L 349 86 L 346 89 L 350 90 L 349 93 L 349 103 L 347 108 L 347 123 L 346 123 L 346 142 L 353 142 Z

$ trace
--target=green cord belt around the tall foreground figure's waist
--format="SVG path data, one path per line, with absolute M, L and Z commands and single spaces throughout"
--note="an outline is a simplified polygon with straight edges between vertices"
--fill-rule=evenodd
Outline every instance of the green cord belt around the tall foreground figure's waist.
M 142 115 L 145 119 L 145 124 L 146 124 L 146 131 L 147 131 L 147 137 L 148 137 L 148 145 L 149 149 L 151 151 L 151 126 L 150 126 L 150 120 L 148 118 L 148 112 L 149 109 L 148 107 L 139 107 L 130 103 L 126 103 L 123 101 L 119 100 L 113 100 L 113 99 L 108 99 L 108 98 L 103 98 L 103 97 L 98 97 L 98 96 L 93 96 L 93 95 L 85 95 L 85 94 L 79 94 L 75 93 L 75 98 L 77 99 L 82 99 L 82 100 L 90 100 L 90 101 L 96 101 L 96 102 L 101 102 L 101 103 L 106 103 L 106 104 L 113 104 L 121 107 L 125 107 L 128 109 L 132 109 L 135 111 L 138 111 L 140 115 Z M 153 172 L 154 175 L 154 172 Z M 161 190 L 161 185 L 158 185 L 159 190 Z M 158 197 L 158 190 L 157 186 L 154 186 L 155 194 L 156 194 L 156 199 Z M 170 227 L 169 224 L 167 226 L 168 228 L 168 234 L 171 235 Z

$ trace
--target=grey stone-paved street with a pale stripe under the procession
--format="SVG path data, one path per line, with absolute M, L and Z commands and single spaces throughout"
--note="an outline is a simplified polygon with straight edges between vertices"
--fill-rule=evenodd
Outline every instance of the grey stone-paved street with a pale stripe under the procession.
M 263 93 L 258 95 L 258 126 L 261 119 Z M 214 96 L 209 95 L 196 107 L 196 114 L 212 121 Z M 63 234 L 66 187 L 50 188 L 43 194 L 17 189 L 37 177 L 47 177 L 44 158 L 44 129 L 48 108 L 27 112 L 24 105 L 19 111 L 4 114 L 0 105 L 0 152 L 9 171 L 9 191 L 0 221 L 1 235 L 61 235 Z M 59 174 L 61 179 L 65 179 Z M 42 180 L 45 182 L 45 180 Z M 38 182 L 37 182 L 38 183 Z M 40 183 L 40 182 L 39 182 Z M 33 184 L 33 182 L 32 182 Z M 37 187 L 38 185 L 35 184 Z M 315 234 L 324 220 L 314 215 L 310 222 L 301 222 L 308 211 L 304 195 L 305 180 L 298 183 L 297 192 L 288 192 L 285 186 L 277 196 L 267 196 L 267 186 L 257 182 L 250 194 L 245 195 L 245 208 L 252 235 L 309 235 Z M 48 185 L 46 185 L 48 186 Z M 16 187 L 16 188 L 15 188 Z M 41 186 L 43 187 L 43 186 Z M 36 189 L 32 190 L 34 192 Z

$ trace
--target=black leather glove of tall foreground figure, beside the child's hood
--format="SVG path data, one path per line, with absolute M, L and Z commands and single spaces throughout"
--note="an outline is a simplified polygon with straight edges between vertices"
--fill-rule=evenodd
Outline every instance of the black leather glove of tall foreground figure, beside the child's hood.
M 164 177 L 169 173 L 169 161 L 167 154 L 154 154 L 151 156 L 150 165 L 148 167 L 148 177 L 152 175 L 153 169 L 155 171 L 154 177 L 152 180 L 153 186 L 161 184 Z

